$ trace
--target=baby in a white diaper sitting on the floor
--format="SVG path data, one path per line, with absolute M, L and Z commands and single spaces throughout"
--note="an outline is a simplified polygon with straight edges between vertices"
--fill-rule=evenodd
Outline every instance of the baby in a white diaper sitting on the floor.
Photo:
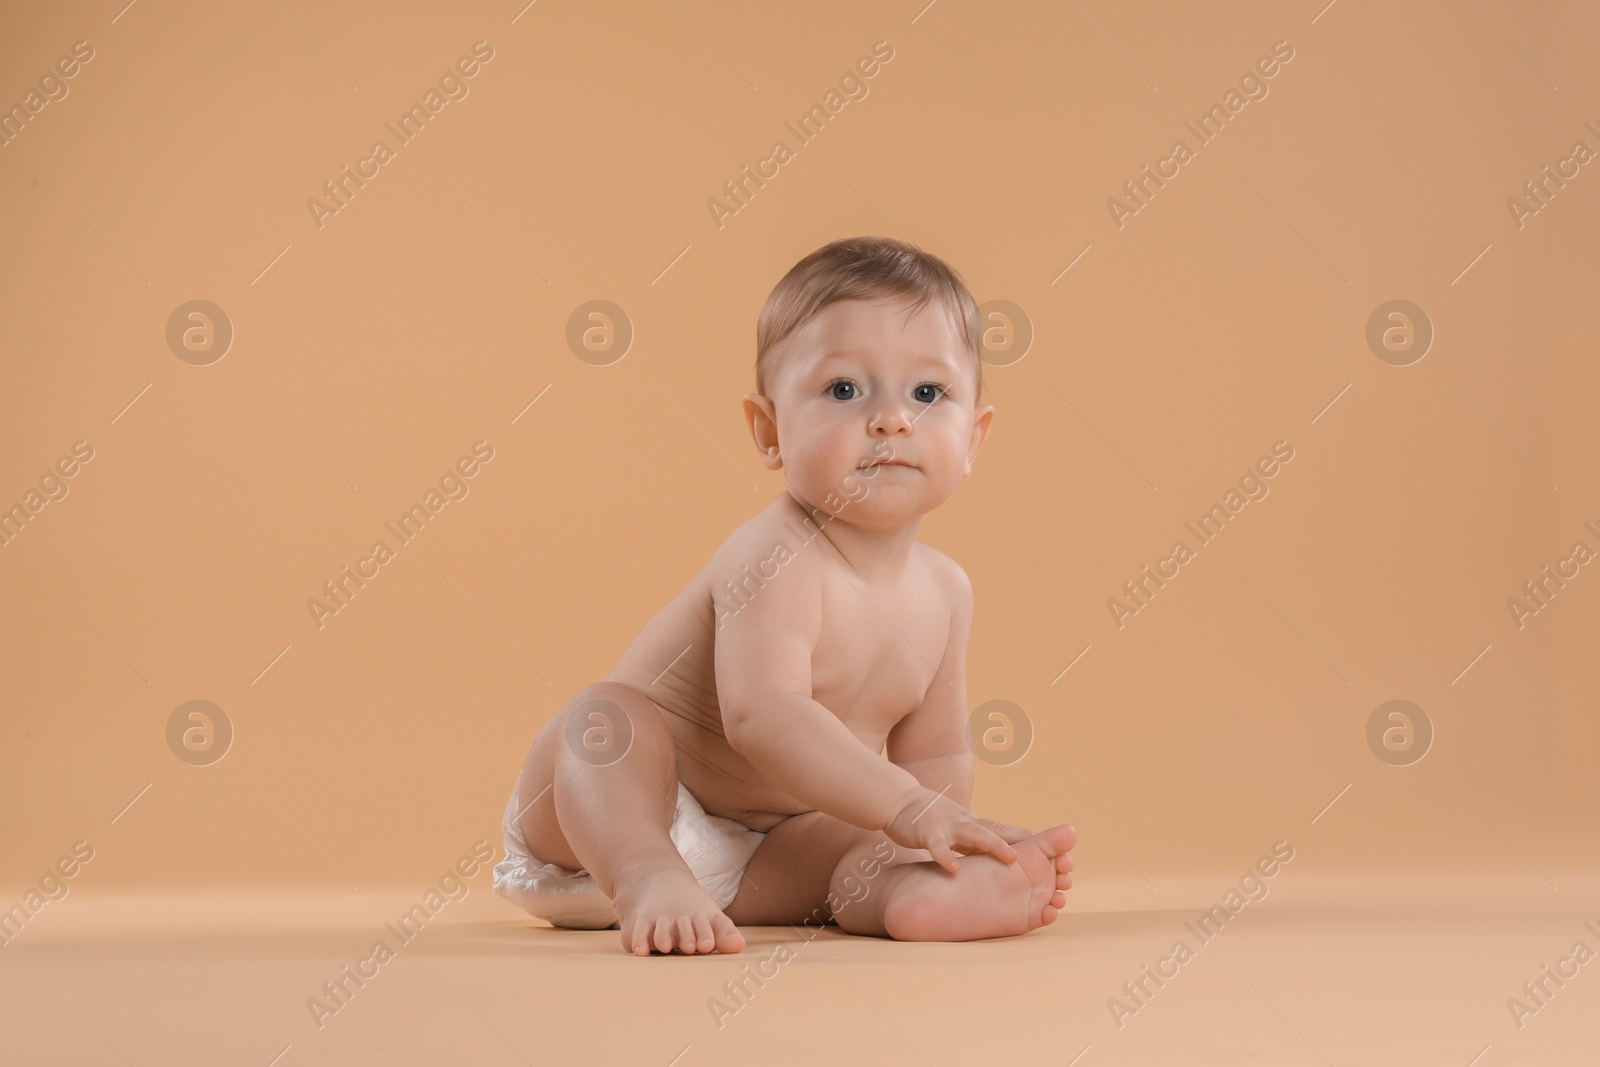
M 978 346 L 960 275 L 912 245 L 837 240 L 784 275 L 744 397 L 784 493 L 539 731 L 502 896 L 637 955 L 816 915 L 902 941 L 1054 921 L 1077 832 L 968 809 L 973 590 L 917 541 L 994 421 Z

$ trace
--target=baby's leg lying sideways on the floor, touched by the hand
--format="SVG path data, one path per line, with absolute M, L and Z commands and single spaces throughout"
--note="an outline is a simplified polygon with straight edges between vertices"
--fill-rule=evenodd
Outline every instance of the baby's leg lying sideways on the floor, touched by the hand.
M 821 811 L 773 827 L 746 869 L 728 918 L 803 923 L 834 912 L 840 929 L 899 941 L 976 941 L 1024 934 L 1056 920 L 1072 888 L 1070 825 L 1027 833 L 995 824 L 1014 864 L 963 856 L 955 873 L 926 851 L 890 841 Z M 758 886 L 758 888 L 757 888 Z

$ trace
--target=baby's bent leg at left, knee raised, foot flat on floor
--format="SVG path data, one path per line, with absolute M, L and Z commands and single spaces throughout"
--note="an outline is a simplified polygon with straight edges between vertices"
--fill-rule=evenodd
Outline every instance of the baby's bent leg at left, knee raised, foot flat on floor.
M 547 785 L 550 795 L 534 801 Z M 744 947 L 667 833 L 678 797 L 677 750 L 643 693 L 616 681 L 578 693 L 528 752 L 518 797 L 528 848 L 594 877 L 616 905 L 626 950 Z

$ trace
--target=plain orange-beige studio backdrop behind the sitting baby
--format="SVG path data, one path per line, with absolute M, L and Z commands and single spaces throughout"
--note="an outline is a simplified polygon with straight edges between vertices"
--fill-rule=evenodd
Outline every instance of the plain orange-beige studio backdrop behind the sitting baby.
M 0 102 L 74 42 L 94 59 L 0 147 L 0 506 L 74 442 L 94 459 L 0 547 L 5 905 L 78 840 L 38 928 L 125 893 L 414 897 L 498 848 L 539 725 L 781 491 L 738 408 L 766 293 L 890 234 L 1035 331 L 923 525 L 976 589 L 971 704 L 1035 729 L 979 768 L 982 813 L 1075 822 L 1080 897 L 1198 902 L 1288 840 L 1294 877 L 1493 875 L 1555 929 L 1600 915 L 1570 881 L 1600 577 L 1523 629 L 1506 603 L 1600 550 L 1595 165 L 1507 210 L 1600 150 L 1600 10 L 518 8 L 6 5 Z M 318 229 L 307 198 L 478 40 L 469 96 Z M 869 94 L 797 147 L 784 123 L 878 40 Z M 1280 40 L 1269 96 L 1118 229 L 1107 198 Z M 707 198 L 779 138 L 795 158 L 718 229 Z M 166 344 L 190 299 L 234 325 L 210 366 Z M 566 344 L 592 299 L 635 330 L 610 366 Z M 1434 323 L 1410 366 L 1366 346 L 1390 299 Z M 307 598 L 478 440 L 470 494 L 318 629 Z M 1278 440 L 1270 496 L 1118 630 L 1106 600 Z M 211 766 L 168 749 L 190 699 L 234 723 Z M 1416 765 L 1368 749 L 1389 699 L 1432 720 Z M 1485 979 L 1485 1027 L 1565 939 Z M 1093 1025 L 1154 955 L 1090 984 Z

